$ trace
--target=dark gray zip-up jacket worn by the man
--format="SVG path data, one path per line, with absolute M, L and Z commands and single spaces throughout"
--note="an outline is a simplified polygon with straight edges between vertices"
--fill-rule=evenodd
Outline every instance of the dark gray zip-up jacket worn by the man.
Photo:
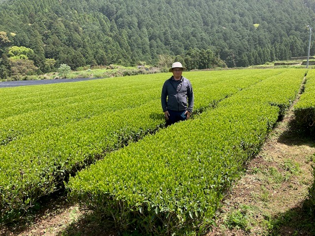
M 190 81 L 183 76 L 179 81 L 174 80 L 173 76 L 166 80 L 162 88 L 161 102 L 163 112 L 188 110 L 191 113 L 193 92 Z

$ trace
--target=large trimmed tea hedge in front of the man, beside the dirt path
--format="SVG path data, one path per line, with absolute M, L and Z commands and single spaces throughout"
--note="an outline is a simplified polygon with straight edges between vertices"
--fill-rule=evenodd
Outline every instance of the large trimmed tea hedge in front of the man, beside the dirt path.
M 225 190 L 295 99 L 304 72 L 282 70 L 197 118 L 106 155 L 70 178 L 71 198 L 121 231 L 202 232 Z

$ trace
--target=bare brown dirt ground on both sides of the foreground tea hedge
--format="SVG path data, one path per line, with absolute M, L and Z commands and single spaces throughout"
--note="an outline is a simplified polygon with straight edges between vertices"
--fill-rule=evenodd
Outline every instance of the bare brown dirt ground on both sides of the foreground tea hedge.
M 292 129 L 292 108 L 271 132 L 245 175 L 222 202 L 218 227 L 207 236 L 314 235 L 302 205 L 312 182 L 315 141 Z M 93 214 L 66 202 L 48 201 L 31 224 L 0 230 L 2 236 L 115 236 Z M 313 230 L 313 234 L 312 234 Z

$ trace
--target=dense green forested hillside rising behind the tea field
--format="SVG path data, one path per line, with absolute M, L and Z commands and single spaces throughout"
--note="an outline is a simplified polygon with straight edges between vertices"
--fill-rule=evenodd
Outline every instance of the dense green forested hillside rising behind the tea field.
M 171 58 L 191 70 L 307 56 L 314 9 L 312 0 L 0 0 L 0 78 L 62 63 Z

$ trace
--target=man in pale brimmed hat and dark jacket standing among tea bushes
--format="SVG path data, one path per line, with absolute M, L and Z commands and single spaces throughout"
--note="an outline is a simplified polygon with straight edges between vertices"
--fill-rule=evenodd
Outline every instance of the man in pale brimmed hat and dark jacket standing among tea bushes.
M 182 76 L 186 67 L 181 62 L 174 62 L 168 71 L 173 76 L 163 85 L 161 102 L 166 125 L 171 125 L 189 119 L 193 108 L 193 92 L 190 81 Z

